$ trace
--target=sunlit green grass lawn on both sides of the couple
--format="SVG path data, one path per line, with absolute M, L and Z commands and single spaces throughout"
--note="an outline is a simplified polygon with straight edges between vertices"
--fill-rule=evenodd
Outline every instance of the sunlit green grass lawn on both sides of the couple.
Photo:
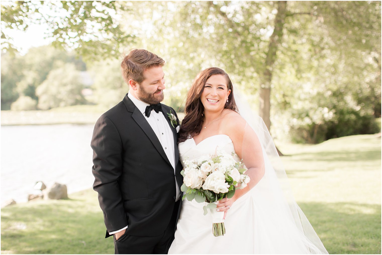
M 381 253 L 381 140 L 277 144 L 291 188 L 329 253 Z M 2 253 L 113 253 L 97 194 L 2 208 Z

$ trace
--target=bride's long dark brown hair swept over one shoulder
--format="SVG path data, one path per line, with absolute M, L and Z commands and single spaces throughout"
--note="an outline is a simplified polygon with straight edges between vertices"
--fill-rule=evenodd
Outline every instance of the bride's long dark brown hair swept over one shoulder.
M 191 84 L 191 88 L 188 90 L 185 118 L 180 126 L 178 142 L 184 142 L 188 139 L 188 136 L 194 137 L 200 134 L 200 131 L 202 130 L 204 112 L 204 107 L 200 97 L 202 96 L 207 79 L 215 74 L 223 75 L 225 79 L 227 79 L 227 89 L 231 90 L 231 93 L 228 95 L 228 103 L 225 103 L 224 108 L 238 112 L 235 98 L 233 97 L 232 82 L 228 74 L 217 67 L 204 69 L 196 76 L 195 80 Z

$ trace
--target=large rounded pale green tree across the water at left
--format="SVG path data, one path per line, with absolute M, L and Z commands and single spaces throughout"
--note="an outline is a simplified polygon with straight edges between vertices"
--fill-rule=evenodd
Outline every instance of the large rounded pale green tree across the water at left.
M 37 87 L 37 107 L 48 110 L 54 107 L 65 107 L 84 103 L 81 94 L 83 84 L 79 71 L 71 63 L 53 69 L 49 72 L 47 79 Z

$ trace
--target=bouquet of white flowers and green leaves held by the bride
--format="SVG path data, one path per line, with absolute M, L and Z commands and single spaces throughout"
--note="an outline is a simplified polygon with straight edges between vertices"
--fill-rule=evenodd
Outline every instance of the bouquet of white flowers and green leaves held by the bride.
M 185 168 L 181 171 L 183 185 L 181 191 L 185 192 L 183 200 L 195 199 L 198 203 L 207 202 L 203 207 L 204 215 L 207 209 L 212 215 L 212 233 L 214 236 L 225 234 L 224 212 L 216 211 L 215 202 L 225 197 L 229 199 L 235 194 L 235 189 L 243 189 L 250 181 L 249 176 L 244 174 L 243 160 L 236 162 L 231 155 L 220 152 L 218 149 L 214 155 L 203 155 L 193 161 L 183 161 Z

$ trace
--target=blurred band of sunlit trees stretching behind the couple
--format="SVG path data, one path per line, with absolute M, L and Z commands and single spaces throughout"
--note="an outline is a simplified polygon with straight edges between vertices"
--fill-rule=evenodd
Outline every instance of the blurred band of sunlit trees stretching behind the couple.
M 1 12 L 2 110 L 112 107 L 128 91 L 123 52 L 146 48 L 165 59 L 165 103 L 180 111 L 196 74 L 217 66 L 275 137 L 317 143 L 380 130 L 380 2 L 19 1 Z M 58 48 L 12 55 L 3 28 L 31 22 L 49 24 Z

